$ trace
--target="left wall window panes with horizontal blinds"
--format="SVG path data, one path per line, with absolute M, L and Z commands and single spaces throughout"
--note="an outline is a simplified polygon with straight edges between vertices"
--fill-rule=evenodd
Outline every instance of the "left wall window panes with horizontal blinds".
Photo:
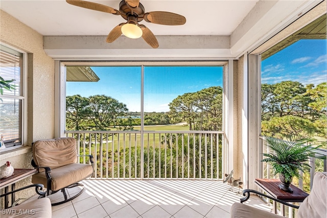
M 3 89 L 0 96 L 0 137 L 5 147 L 22 144 L 24 95 L 24 54 L 0 45 L 0 76 L 12 80 L 14 90 Z M 2 147 L 3 148 L 3 147 Z

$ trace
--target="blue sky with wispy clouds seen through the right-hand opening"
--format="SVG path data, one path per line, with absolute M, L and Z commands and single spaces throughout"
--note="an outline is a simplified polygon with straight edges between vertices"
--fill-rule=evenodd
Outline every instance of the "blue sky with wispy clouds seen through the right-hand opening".
M 302 39 L 262 61 L 262 83 L 327 81 L 327 40 Z

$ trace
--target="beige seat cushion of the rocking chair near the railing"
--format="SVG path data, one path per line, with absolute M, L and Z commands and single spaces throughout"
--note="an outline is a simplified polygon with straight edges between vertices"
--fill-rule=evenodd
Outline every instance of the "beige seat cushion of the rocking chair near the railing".
M 75 184 L 92 175 L 92 166 L 88 164 L 72 163 L 51 169 L 51 190 L 57 191 L 66 186 Z M 45 188 L 45 172 L 39 172 L 32 176 L 32 183 L 41 183 Z

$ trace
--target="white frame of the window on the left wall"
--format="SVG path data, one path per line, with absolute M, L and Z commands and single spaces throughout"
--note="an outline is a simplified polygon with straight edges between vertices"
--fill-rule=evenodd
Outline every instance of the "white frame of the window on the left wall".
M 22 55 L 21 60 L 21 69 L 20 69 L 20 77 L 21 77 L 21 84 L 20 84 L 20 94 L 15 96 L 15 95 L 2 95 L 2 98 L 11 98 L 11 99 L 17 99 L 21 100 L 21 106 L 19 107 L 19 110 L 21 112 L 19 113 L 20 116 L 20 123 L 19 123 L 19 130 L 20 130 L 20 135 L 21 135 L 21 140 L 19 142 L 15 143 L 5 143 L 6 148 L 2 149 L 4 150 L 12 150 L 16 149 L 19 147 L 22 147 L 26 145 L 27 143 L 27 102 L 28 102 L 28 97 L 27 97 L 27 72 L 28 72 L 28 54 L 20 49 L 17 49 L 15 47 L 9 46 L 6 43 L 0 43 L 0 48 L 8 48 L 9 50 L 12 50 L 13 52 L 18 52 Z

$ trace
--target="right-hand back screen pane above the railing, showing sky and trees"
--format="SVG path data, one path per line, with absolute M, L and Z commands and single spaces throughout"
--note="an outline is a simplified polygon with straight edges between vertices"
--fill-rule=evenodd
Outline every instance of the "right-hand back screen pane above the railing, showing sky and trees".
M 145 66 L 146 130 L 222 130 L 223 67 Z

